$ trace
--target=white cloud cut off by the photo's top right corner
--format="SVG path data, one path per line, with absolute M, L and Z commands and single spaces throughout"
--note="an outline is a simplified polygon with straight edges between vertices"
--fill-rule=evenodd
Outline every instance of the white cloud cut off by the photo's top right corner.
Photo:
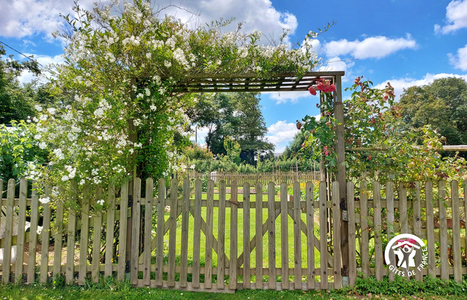
M 446 25 L 435 25 L 435 33 L 448 34 L 467 28 L 467 0 L 454 0 L 446 7 Z

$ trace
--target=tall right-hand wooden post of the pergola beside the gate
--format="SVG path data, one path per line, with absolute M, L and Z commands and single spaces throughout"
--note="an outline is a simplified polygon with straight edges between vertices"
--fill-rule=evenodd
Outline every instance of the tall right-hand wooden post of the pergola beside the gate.
M 341 76 L 335 76 L 336 93 L 334 94 L 334 118 L 336 118 L 336 154 L 337 154 L 337 181 L 339 182 L 339 196 L 341 203 L 341 266 L 342 283 L 348 285 L 348 223 L 346 216 L 346 148 L 344 141 L 344 115 L 342 103 Z

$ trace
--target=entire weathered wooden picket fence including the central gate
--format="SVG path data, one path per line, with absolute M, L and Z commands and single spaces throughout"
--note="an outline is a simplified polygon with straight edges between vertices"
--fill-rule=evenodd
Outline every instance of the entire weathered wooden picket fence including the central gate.
M 427 182 L 424 189 L 418 183 L 396 189 L 390 182 L 384 188 L 374 182 L 368 189 L 349 182 L 346 210 L 338 182 L 315 187 L 307 182 L 304 191 L 303 184 L 301 189 L 294 182 L 289 200 L 285 182 L 268 184 L 264 194 L 261 182 L 237 186 L 232 181 L 227 186 L 224 180 L 218 185 L 209 180 L 203 192 L 200 179 L 159 179 L 154 184 L 136 178 L 131 198 L 128 182 L 118 191 L 107 189 L 104 212 L 92 210 L 95 203 L 89 201 L 80 210 L 41 203 L 26 180 L 19 183 L 18 195 L 16 185 L 11 179 L 3 191 L 0 180 L 3 282 L 46 282 L 65 275 L 67 282 L 84 285 L 103 276 L 124 280 L 129 273 L 133 285 L 180 290 L 338 289 L 343 285 L 341 232 L 334 229 L 340 228 L 341 213 L 348 219 L 350 285 L 358 272 L 378 280 L 394 278 L 383 262 L 383 250 L 386 237 L 397 233 L 427 240 L 428 268 L 417 280 L 453 274 L 459 281 L 467 274 L 461 218 L 467 201 L 454 180 L 435 188 Z M 465 195 L 466 182 L 461 189 Z M 41 197 L 50 193 L 46 189 Z M 452 229 L 447 215 L 452 215 Z M 124 259 L 127 252 L 129 261 Z

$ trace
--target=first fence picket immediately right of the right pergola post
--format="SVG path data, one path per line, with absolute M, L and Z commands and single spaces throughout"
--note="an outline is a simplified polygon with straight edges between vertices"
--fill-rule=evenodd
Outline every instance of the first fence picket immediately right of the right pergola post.
M 347 217 L 348 217 L 348 279 L 351 287 L 357 280 L 357 248 L 355 245 L 355 187 L 353 182 L 347 183 Z

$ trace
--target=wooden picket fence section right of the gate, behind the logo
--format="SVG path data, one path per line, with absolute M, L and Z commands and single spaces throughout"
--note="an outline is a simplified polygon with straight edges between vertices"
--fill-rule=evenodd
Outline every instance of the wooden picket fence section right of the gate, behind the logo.
M 395 186 L 393 182 L 386 186 L 374 182 L 371 189 L 367 184 L 361 184 L 356 190 L 349 182 L 350 285 L 355 284 L 357 272 L 362 272 L 365 278 L 374 275 L 381 280 L 388 275 L 390 280 L 394 280 L 395 273 L 389 271 L 384 263 L 386 245 L 383 241 L 386 244 L 401 233 L 411 233 L 426 240 L 428 266 L 421 272 L 414 272 L 416 280 L 423 280 L 423 275 L 448 280 L 449 275 L 454 275 L 454 280 L 461 282 L 462 275 L 467 274 L 466 185 L 467 180 L 452 180 L 450 184 L 440 181 L 435 186 L 427 181 L 421 189 L 419 182 L 414 182 L 409 188 L 404 184 Z M 463 193 L 460 194 L 459 190 Z M 356 230 L 356 227 L 360 229 Z M 373 236 L 371 241 L 370 236 Z M 370 243 L 374 245 L 371 255 Z M 360 253 L 360 266 L 357 266 L 357 251 Z M 416 252 L 416 266 L 421 264 L 421 260 L 421 252 Z M 415 268 L 410 270 L 415 271 Z

